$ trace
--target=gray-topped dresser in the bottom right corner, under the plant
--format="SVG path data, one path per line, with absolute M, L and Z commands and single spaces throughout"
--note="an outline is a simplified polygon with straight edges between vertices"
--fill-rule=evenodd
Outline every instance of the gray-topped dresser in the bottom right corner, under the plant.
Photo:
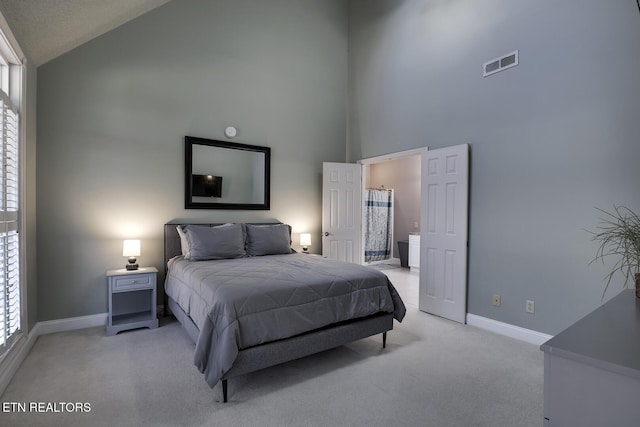
M 640 299 L 624 290 L 544 352 L 544 425 L 640 425 Z

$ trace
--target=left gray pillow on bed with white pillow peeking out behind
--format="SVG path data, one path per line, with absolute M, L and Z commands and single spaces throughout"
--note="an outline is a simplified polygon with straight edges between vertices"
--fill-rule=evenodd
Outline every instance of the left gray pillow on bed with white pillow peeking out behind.
M 242 224 L 224 224 L 216 227 L 190 224 L 182 228 L 182 233 L 179 229 L 178 234 L 182 254 L 189 261 L 242 258 L 247 254 L 244 250 Z

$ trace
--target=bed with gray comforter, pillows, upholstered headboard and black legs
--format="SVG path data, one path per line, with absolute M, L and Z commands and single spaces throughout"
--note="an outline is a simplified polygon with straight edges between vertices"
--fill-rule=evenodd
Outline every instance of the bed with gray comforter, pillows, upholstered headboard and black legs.
M 213 388 L 386 333 L 405 306 L 387 276 L 291 250 L 285 224 L 165 224 L 165 313 Z M 167 310 L 168 308 L 168 310 Z

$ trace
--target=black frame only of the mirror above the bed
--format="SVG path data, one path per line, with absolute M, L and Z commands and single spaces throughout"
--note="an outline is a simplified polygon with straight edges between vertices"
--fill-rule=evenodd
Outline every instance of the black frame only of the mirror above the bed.
M 191 197 L 191 174 L 193 166 L 193 145 L 229 148 L 231 150 L 253 151 L 264 154 L 264 203 L 201 203 L 194 202 Z M 271 195 L 271 148 L 259 145 L 237 144 L 215 139 L 184 137 L 184 208 L 185 209 L 236 209 L 236 210 L 269 210 Z

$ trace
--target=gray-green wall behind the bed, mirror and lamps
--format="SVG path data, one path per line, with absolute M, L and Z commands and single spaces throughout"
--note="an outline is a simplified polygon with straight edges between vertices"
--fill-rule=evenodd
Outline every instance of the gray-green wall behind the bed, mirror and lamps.
M 294 245 L 319 233 L 346 93 L 340 0 L 173 0 L 40 67 L 38 320 L 106 312 L 122 239 L 162 269 L 173 219 L 277 219 Z M 184 136 L 226 140 L 229 125 L 233 141 L 272 149 L 271 210 L 185 210 Z

